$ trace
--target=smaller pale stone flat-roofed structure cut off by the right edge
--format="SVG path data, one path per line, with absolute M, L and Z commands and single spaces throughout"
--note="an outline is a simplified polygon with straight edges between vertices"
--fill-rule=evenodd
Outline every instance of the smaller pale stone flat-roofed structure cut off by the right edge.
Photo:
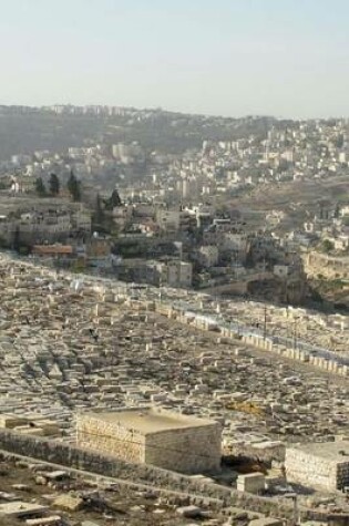
M 349 442 L 288 447 L 285 467 L 289 482 L 330 492 L 343 489 L 349 486 Z

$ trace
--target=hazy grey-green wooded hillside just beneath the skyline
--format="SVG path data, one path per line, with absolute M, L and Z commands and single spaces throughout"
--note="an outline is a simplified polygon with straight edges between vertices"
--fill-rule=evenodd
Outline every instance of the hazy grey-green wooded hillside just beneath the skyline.
M 201 147 L 203 140 L 234 141 L 250 134 L 264 137 L 273 123 L 287 125 L 271 117 L 237 120 L 172 112 L 154 112 L 143 120 L 130 115 L 60 115 L 34 109 L 23 112 L 13 106 L 2 106 L 0 112 L 0 161 L 7 161 L 13 152 L 62 152 L 102 136 L 107 144 L 137 141 L 148 153 L 181 153 Z

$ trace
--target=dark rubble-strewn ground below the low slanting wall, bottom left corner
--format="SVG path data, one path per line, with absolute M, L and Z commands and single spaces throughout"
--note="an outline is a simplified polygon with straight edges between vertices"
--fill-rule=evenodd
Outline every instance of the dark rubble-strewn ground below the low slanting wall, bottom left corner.
M 48 509 L 22 518 L 1 515 L 3 504 L 16 502 L 37 504 Z M 194 507 L 187 506 L 185 498 L 166 498 L 136 486 L 94 482 L 68 472 L 59 473 L 43 464 L 3 456 L 0 462 L 1 526 L 20 526 L 25 524 L 27 518 L 53 516 L 61 517 L 64 526 L 184 526 L 224 522 L 224 517 L 213 509 L 201 507 L 195 512 Z M 217 522 L 211 522 L 212 518 Z

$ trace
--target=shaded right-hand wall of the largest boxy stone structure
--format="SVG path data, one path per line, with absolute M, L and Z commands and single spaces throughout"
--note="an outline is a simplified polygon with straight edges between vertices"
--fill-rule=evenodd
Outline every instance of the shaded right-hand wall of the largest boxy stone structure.
M 217 424 L 162 431 L 146 435 L 145 462 L 181 473 L 220 468 L 222 427 Z

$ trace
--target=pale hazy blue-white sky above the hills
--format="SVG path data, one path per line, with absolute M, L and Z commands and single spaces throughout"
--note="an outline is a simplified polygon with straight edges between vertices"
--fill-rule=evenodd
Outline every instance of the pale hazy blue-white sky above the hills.
M 349 117 L 348 0 L 0 0 L 0 104 Z

